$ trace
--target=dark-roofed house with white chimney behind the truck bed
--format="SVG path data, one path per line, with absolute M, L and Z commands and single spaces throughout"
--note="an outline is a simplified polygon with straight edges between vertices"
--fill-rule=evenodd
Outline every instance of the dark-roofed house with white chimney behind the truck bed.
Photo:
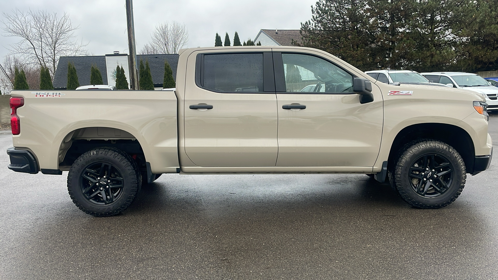
M 176 81 L 176 66 L 178 64 L 178 54 L 144 54 L 137 55 L 137 64 L 140 59 L 149 62 L 152 83 L 157 90 L 162 89 L 164 80 L 164 61 L 168 61 L 173 70 L 173 79 Z M 115 51 L 113 54 L 95 56 L 61 56 L 54 76 L 54 89 L 65 90 L 67 87 L 67 66 L 71 62 L 76 68 L 78 82 L 81 86 L 90 85 L 90 70 L 92 65 L 96 65 L 102 74 L 102 82 L 105 85 L 115 86 L 116 67 L 122 66 L 124 75 L 129 84 L 128 55 Z M 138 64 L 139 65 L 139 64 Z M 113 78 L 114 77 L 114 78 Z

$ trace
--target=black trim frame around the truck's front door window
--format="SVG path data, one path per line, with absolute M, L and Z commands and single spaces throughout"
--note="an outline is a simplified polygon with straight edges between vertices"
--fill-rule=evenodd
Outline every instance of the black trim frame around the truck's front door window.
M 323 60 L 333 64 L 337 68 L 343 70 L 344 72 L 350 74 L 351 78 L 352 78 L 351 86 L 353 86 L 353 79 L 358 78 L 358 76 L 356 76 L 353 73 L 351 73 L 350 71 L 340 67 L 339 65 L 337 65 L 337 63 L 334 63 L 334 62 L 330 61 L 329 59 L 322 57 L 322 56 L 318 56 L 318 55 L 311 54 L 311 53 L 304 53 L 304 52 L 274 51 L 273 52 L 273 69 L 275 70 L 275 90 L 276 90 L 276 93 L 279 93 L 279 94 L 283 94 L 283 93 L 285 93 L 285 94 L 306 94 L 306 95 L 311 95 L 311 94 L 336 94 L 336 95 L 357 94 L 356 92 L 307 92 L 307 93 L 300 92 L 300 91 L 289 91 L 288 92 L 287 86 L 285 85 L 285 72 L 283 70 L 282 54 L 302 54 L 302 55 L 309 55 L 309 56 L 314 56 L 314 57 L 323 59 Z

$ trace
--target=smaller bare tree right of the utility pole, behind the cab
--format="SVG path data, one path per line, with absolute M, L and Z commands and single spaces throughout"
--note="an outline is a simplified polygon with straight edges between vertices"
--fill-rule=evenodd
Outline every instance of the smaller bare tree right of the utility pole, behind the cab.
M 156 25 L 149 43 L 140 50 L 140 54 L 178 53 L 187 42 L 188 31 L 185 23 L 166 21 Z

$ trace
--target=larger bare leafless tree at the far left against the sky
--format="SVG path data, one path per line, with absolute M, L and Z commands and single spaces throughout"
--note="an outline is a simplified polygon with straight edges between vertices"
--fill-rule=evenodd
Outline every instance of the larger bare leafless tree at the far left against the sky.
M 59 57 L 86 53 L 86 44 L 75 39 L 74 31 L 78 26 L 73 26 L 67 13 L 58 17 L 55 12 L 15 9 L 11 14 L 2 14 L 4 36 L 21 38 L 11 44 L 9 50 L 26 64 L 47 66 L 53 76 Z

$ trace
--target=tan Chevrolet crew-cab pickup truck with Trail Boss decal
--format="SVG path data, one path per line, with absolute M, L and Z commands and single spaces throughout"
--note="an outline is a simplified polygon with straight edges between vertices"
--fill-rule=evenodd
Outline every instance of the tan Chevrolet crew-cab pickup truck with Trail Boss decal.
M 62 174 L 94 216 L 162 173 L 362 173 L 418 208 L 462 192 L 492 158 L 485 99 L 387 85 L 317 49 L 180 51 L 175 91 L 14 91 L 17 172 Z

